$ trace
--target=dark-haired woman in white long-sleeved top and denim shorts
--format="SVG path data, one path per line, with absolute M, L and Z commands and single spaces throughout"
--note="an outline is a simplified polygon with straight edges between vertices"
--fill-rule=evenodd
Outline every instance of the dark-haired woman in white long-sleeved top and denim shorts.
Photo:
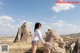
M 37 22 L 35 24 L 35 28 L 34 28 L 34 38 L 32 40 L 32 53 L 36 53 L 36 50 L 37 50 L 37 44 L 38 44 L 38 41 L 40 40 L 42 42 L 42 44 L 47 44 L 47 42 L 45 42 L 42 38 L 42 34 L 41 34 L 41 29 L 42 25 L 41 23 Z

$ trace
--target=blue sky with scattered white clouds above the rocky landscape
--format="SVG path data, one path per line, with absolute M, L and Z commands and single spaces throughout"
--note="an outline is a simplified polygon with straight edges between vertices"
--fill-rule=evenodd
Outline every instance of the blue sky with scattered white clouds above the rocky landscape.
M 24 21 L 31 30 L 41 22 L 60 34 L 80 32 L 80 4 L 56 4 L 55 0 L 0 0 L 0 35 L 15 35 Z

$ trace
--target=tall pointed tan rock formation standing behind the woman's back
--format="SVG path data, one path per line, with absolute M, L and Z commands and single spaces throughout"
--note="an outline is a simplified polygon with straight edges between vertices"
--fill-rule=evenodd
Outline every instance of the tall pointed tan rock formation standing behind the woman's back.
M 23 25 L 20 28 L 18 28 L 18 32 L 14 42 L 20 41 L 30 42 L 31 39 L 32 33 L 30 31 L 29 24 L 27 22 L 24 22 Z

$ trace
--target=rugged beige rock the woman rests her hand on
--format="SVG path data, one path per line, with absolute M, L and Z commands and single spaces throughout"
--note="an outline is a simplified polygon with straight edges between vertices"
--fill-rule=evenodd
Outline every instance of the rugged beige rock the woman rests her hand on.
M 45 41 L 48 44 L 44 46 L 43 53 L 65 53 L 64 41 L 56 31 L 48 29 Z

